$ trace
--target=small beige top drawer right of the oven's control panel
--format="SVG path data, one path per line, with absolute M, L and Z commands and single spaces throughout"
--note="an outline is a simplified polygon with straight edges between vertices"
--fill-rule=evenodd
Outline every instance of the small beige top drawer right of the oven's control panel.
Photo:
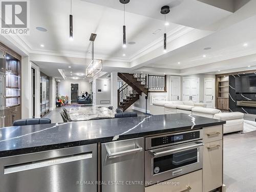
M 218 141 L 222 139 L 222 125 L 212 126 L 203 130 L 204 143 Z

